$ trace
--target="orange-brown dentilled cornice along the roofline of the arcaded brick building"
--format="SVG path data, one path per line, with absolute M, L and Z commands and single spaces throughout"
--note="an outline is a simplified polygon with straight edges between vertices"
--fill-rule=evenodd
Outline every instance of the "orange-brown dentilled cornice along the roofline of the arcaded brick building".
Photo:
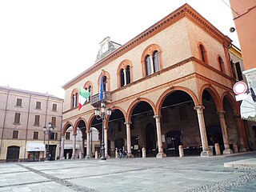
M 122 54 L 125 54 L 127 51 L 133 49 L 142 42 L 145 42 L 146 39 L 158 34 L 162 30 L 165 30 L 166 27 L 184 17 L 192 19 L 198 26 L 201 26 L 208 33 L 212 34 L 214 38 L 217 38 L 218 41 L 226 44 L 226 46 L 229 46 L 232 42 L 230 38 L 222 34 L 222 32 L 208 22 L 206 18 L 203 18 L 201 14 L 198 14 L 196 10 L 186 3 L 177 10 L 174 10 L 174 12 L 167 15 L 165 18 L 162 18 L 153 26 L 150 26 L 147 30 L 144 30 L 141 34 L 138 34 L 135 38 L 132 38 L 129 42 L 126 42 L 123 46 L 120 46 L 117 50 L 114 50 L 111 54 L 107 55 L 106 58 L 102 58 L 100 61 L 96 62 L 94 66 L 90 66 L 90 68 L 82 72 L 82 74 L 79 74 L 77 77 L 70 80 L 70 82 L 67 82 L 62 86 L 62 88 L 64 90 L 68 89 L 70 86 L 73 86 L 75 83 L 86 78 L 86 76 L 93 74 L 96 70 L 106 66 L 109 62 L 114 61 L 114 59 L 120 57 Z

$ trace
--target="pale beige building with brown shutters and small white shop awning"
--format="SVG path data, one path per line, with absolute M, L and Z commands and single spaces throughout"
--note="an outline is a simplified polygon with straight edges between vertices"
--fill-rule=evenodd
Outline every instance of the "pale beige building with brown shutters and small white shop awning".
M 63 99 L 0 86 L 0 161 L 42 161 L 48 135 L 43 127 L 51 122 L 51 160 L 59 156 Z

